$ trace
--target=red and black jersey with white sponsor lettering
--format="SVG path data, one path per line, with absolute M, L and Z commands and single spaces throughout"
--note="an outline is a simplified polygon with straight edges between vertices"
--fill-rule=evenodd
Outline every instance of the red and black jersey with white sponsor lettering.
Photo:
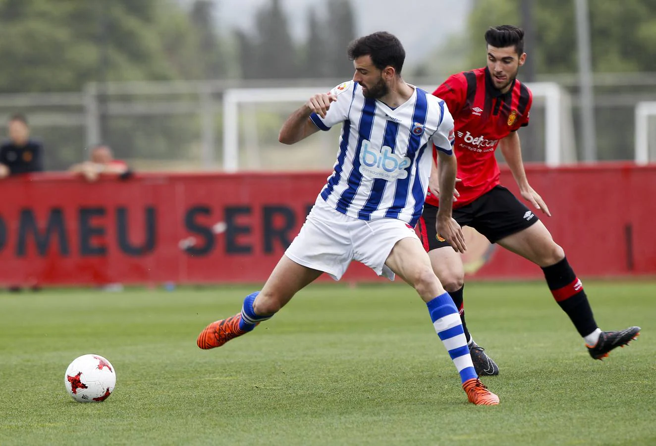
M 502 93 L 487 68 L 451 75 L 433 94 L 446 102 L 455 121 L 453 147 L 462 182 L 453 207 L 461 207 L 499 184 L 495 149 L 499 140 L 528 125 L 533 94 L 517 79 Z M 426 203 L 438 206 L 439 200 L 429 194 Z

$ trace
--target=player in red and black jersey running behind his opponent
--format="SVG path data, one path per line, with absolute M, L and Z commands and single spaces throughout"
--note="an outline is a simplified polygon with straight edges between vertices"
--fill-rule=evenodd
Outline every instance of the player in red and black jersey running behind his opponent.
M 522 202 L 499 184 L 495 149 L 508 163 L 522 198 L 551 216 L 540 195 L 526 178 L 518 129 L 529 123 L 531 91 L 516 79 L 526 60 L 523 30 L 503 25 L 485 33 L 487 66 L 457 73 L 433 92 L 444 100 L 455 120 L 455 153 L 458 159 L 457 201 L 453 218 L 461 226 L 471 226 L 505 249 L 540 266 L 558 305 L 584 338 L 594 359 L 602 359 L 640 332 L 640 327 L 622 331 L 601 331 L 594 321 L 581 281 L 567 262 L 565 253 L 549 231 Z M 479 375 L 498 375 L 499 367 L 478 346 L 467 330 L 462 306 L 464 268 L 460 254 L 436 232 L 439 201 L 436 167 L 430 177 L 429 192 L 419 221 L 424 248 L 433 269 L 460 310 L 474 367 Z

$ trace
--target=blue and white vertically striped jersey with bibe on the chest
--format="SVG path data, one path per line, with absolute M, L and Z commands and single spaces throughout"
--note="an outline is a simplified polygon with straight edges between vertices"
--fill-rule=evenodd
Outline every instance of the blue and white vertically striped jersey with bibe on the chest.
M 361 220 L 398 218 L 417 224 L 432 163 L 432 145 L 453 156 L 453 118 L 440 98 L 421 89 L 394 110 L 367 99 L 358 83 L 331 90 L 337 97 L 325 118 L 310 115 L 323 131 L 342 123 L 337 162 L 321 197 Z M 428 149 L 428 150 L 426 150 Z

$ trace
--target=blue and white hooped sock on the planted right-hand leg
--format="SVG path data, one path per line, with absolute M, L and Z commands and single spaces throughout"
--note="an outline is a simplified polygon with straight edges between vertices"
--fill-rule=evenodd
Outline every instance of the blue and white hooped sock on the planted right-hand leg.
M 433 321 L 435 331 L 440 336 L 444 346 L 460 373 L 462 382 L 471 378 L 478 378 L 476 369 L 472 364 L 472 357 L 467 347 L 467 338 L 464 336 L 462 321 L 449 293 L 440 294 L 426 304 Z

